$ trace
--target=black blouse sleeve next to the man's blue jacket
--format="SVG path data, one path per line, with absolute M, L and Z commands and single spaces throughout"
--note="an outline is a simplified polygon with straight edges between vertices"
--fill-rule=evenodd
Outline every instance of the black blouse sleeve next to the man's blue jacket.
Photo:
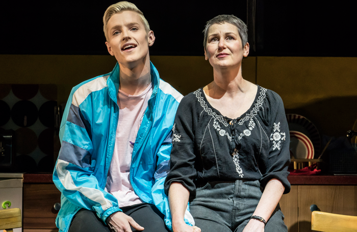
M 196 196 L 196 186 L 193 180 L 197 172 L 194 167 L 194 107 L 188 104 L 188 96 L 184 97 L 177 109 L 172 127 L 172 150 L 170 156 L 170 172 L 165 180 L 165 193 L 171 183 L 182 184 L 189 192 L 190 199 Z

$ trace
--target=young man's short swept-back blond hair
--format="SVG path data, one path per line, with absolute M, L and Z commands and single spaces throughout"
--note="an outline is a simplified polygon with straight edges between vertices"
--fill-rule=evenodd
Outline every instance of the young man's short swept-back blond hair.
M 107 32 L 108 21 L 114 14 L 120 13 L 122 11 L 134 11 L 134 12 L 138 13 L 141 17 L 141 20 L 144 23 L 146 33 L 148 33 L 150 31 L 149 23 L 147 22 L 146 18 L 144 17 L 143 12 L 141 12 L 134 4 L 123 1 L 123 2 L 119 2 L 119 3 L 111 5 L 110 7 L 108 7 L 106 12 L 104 13 L 103 31 L 104 31 L 104 35 L 106 36 L 107 41 L 109 41 L 108 32 Z

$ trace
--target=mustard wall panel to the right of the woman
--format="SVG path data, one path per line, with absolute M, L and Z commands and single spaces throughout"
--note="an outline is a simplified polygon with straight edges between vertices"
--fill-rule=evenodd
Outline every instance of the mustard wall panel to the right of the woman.
M 258 57 L 257 84 L 277 92 L 287 113 L 322 134 L 343 136 L 357 118 L 357 58 Z

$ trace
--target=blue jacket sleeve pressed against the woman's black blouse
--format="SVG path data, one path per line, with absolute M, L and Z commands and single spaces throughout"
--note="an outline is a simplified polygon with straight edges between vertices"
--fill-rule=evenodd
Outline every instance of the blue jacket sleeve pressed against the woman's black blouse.
M 178 105 L 178 104 L 177 104 Z M 165 215 L 165 224 L 166 226 L 172 230 L 172 220 L 168 202 L 168 196 L 165 194 L 164 183 L 166 176 L 170 170 L 170 153 L 172 149 L 172 124 L 174 115 L 176 112 L 177 106 L 174 109 L 174 112 L 170 112 L 172 114 L 172 119 L 170 119 L 170 126 L 164 134 L 165 140 L 161 143 L 159 151 L 157 152 L 157 163 L 156 163 L 156 171 L 154 174 L 155 184 L 151 189 L 152 201 L 156 205 L 156 207 L 160 210 L 161 213 Z M 168 119 L 168 114 L 166 114 L 166 119 Z M 195 225 L 192 215 L 189 212 L 189 208 L 187 207 L 185 212 L 185 222 L 188 225 Z

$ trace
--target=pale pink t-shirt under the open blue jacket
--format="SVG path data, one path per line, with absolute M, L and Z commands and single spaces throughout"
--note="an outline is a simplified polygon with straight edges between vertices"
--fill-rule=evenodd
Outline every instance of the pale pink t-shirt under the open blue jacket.
M 119 207 L 142 203 L 134 192 L 129 175 L 134 143 L 151 93 L 152 84 L 140 95 L 118 92 L 119 119 L 106 191 L 118 199 Z

